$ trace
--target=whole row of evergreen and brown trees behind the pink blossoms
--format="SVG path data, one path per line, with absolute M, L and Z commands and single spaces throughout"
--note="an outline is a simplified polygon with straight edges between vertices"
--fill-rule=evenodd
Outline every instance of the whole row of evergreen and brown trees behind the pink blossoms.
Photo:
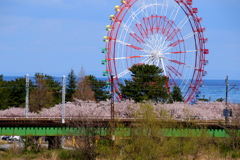
M 151 101 L 155 103 L 172 103 L 184 101 L 181 90 L 174 86 L 170 90 L 169 79 L 163 76 L 163 70 L 155 65 L 133 65 L 130 69 L 132 80 L 125 80 L 124 84 L 116 84 L 118 100 L 134 100 L 135 102 Z M 66 101 L 74 98 L 83 101 L 106 101 L 111 98 L 109 83 L 98 80 L 93 75 L 85 75 L 82 68 L 77 77 L 71 69 L 67 77 Z M 26 79 L 16 78 L 4 81 L 0 76 L 0 109 L 8 107 L 24 107 L 26 97 Z M 109 87 L 109 88 L 108 88 Z M 62 84 L 53 76 L 36 73 L 34 82 L 29 82 L 30 111 L 40 111 L 61 103 Z

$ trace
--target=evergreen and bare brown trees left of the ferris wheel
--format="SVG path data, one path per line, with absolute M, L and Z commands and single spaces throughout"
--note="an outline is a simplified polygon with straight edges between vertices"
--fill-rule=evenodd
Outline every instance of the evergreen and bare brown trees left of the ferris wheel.
M 105 101 L 110 98 L 106 90 L 105 81 L 98 80 L 93 75 L 85 76 L 82 69 L 77 77 L 71 69 L 67 77 L 66 101 L 74 98 L 92 101 Z M 26 79 L 15 78 L 6 81 L 0 75 L 0 109 L 9 107 L 25 107 Z M 33 80 L 29 80 L 29 109 L 39 111 L 42 108 L 50 108 L 62 102 L 62 83 L 53 76 L 36 73 Z

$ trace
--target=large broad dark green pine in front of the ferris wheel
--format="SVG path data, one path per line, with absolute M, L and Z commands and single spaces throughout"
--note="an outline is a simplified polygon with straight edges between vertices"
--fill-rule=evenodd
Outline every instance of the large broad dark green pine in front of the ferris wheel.
M 119 84 L 123 99 L 132 99 L 135 102 L 165 102 L 168 99 L 168 78 L 161 75 L 161 68 L 143 64 L 132 66 L 130 71 L 132 81 L 125 80 L 125 85 Z

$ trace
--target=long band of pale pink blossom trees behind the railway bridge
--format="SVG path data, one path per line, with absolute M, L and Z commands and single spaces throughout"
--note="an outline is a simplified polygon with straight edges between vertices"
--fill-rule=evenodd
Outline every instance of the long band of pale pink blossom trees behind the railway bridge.
M 139 103 L 133 101 L 114 102 L 115 118 L 133 118 L 134 113 L 140 108 Z M 202 119 L 202 120 L 221 120 L 223 109 L 226 108 L 224 102 L 198 102 L 191 105 L 188 103 L 175 102 L 173 104 L 152 104 L 154 111 L 161 118 L 173 119 Z M 228 107 L 234 113 L 239 113 L 240 104 L 229 103 Z M 164 113 L 164 114 L 163 114 Z M 95 103 L 93 101 L 75 100 L 65 104 L 65 117 L 86 117 L 108 119 L 111 115 L 111 101 Z M 0 110 L 1 118 L 25 117 L 25 108 L 12 107 Z M 49 109 L 44 108 L 39 113 L 29 112 L 28 117 L 61 117 L 62 104 L 55 105 Z

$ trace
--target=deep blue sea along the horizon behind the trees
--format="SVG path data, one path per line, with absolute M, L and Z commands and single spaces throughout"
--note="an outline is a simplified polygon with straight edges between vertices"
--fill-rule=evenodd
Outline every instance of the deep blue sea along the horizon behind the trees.
M 17 76 L 4 76 L 6 81 L 15 80 L 16 78 L 24 78 Z M 29 79 L 34 81 L 33 77 Z M 54 77 L 55 80 L 62 82 L 62 77 Z M 98 78 L 99 80 L 107 80 L 106 78 Z M 228 90 L 226 90 L 226 82 L 224 80 L 203 80 L 204 85 L 199 88 L 199 98 L 208 99 L 210 102 L 219 98 L 226 99 L 228 94 L 228 102 L 240 104 L 240 80 L 228 80 Z

